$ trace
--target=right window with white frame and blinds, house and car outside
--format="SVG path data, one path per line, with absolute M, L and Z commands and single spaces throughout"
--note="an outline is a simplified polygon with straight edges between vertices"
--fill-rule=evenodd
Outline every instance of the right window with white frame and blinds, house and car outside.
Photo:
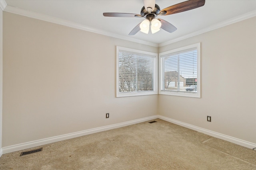
M 200 43 L 159 56 L 159 94 L 200 98 Z

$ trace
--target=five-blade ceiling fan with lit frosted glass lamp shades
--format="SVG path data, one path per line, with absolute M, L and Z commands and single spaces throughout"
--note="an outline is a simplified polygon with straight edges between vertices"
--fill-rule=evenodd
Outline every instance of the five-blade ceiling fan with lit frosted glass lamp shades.
M 167 16 L 171 14 L 176 14 L 188 10 L 192 10 L 194 8 L 198 8 L 204 6 L 205 0 L 188 0 L 185 2 L 181 2 L 179 4 L 175 4 L 160 10 L 160 7 L 155 4 L 156 0 L 143 0 L 144 6 L 142 7 L 140 14 L 129 14 L 129 13 L 103 13 L 103 16 L 106 17 L 138 17 L 145 18 L 144 21 L 139 23 L 129 35 L 135 35 L 138 31 L 142 31 L 144 33 L 148 33 L 151 23 L 151 32 L 156 33 L 160 30 L 160 28 L 165 31 L 172 33 L 176 31 L 176 27 L 171 23 L 162 20 L 156 19 L 157 16 Z

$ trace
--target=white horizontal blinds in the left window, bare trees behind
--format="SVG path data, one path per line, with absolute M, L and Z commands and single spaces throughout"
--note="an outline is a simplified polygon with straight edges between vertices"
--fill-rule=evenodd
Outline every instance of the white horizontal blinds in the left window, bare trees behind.
M 119 51 L 119 92 L 153 91 L 156 57 Z

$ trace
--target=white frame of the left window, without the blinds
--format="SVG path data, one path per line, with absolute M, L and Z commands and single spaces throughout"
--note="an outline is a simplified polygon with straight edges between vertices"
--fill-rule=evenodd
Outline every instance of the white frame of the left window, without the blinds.
M 132 53 L 139 53 L 144 55 L 151 55 L 155 57 L 155 71 L 154 71 L 154 90 L 152 91 L 138 91 L 138 92 L 119 92 L 119 51 L 127 51 Z M 130 49 L 126 47 L 116 46 L 116 97 L 128 97 L 128 96 L 144 96 L 158 94 L 158 53 L 152 53 L 148 51 L 141 51 L 136 49 Z

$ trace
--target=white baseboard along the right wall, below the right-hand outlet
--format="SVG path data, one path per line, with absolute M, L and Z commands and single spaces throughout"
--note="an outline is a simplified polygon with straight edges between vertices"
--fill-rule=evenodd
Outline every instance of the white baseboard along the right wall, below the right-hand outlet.
M 253 149 L 256 147 L 256 143 L 251 143 L 251 142 L 248 142 L 248 141 L 244 141 L 244 140 L 241 140 L 241 139 L 237 139 L 237 138 L 234 138 L 234 137 L 230 137 L 228 135 L 223 135 L 221 133 L 217 133 L 217 132 L 214 132 L 214 131 L 210 131 L 208 129 L 204 129 L 204 128 L 201 128 L 201 127 L 197 127 L 197 126 L 194 126 L 194 125 L 190 125 L 188 123 L 183 123 L 181 121 L 177 121 L 177 120 L 174 120 L 174 119 L 170 119 L 168 117 L 164 117 L 164 116 L 161 116 L 161 115 L 158 115 L 158 118 L 159 119 L 162 119 L 162 120 L 165 120 L 165 121 L 168 121 L 170 123 L 174 123 L 176 125 L 180 125 L 182 127 L 186 127 L 188 129 L 192 129 L 192 130 L 195 130 L 195 131 L 198 131 L 198 132 L 201 132 L 201 133 L 204 133 L 206 135 L 210 135 L 212 137 L 216 137 L 218 139 L 223 139 L 225 141 L 229 141 L 231 143 L 235 143 L 237 145 L 241 145 L 243 147 L 246 147 L 246 148 L 250 148 L 250 149 Z

